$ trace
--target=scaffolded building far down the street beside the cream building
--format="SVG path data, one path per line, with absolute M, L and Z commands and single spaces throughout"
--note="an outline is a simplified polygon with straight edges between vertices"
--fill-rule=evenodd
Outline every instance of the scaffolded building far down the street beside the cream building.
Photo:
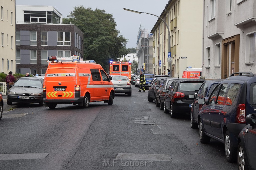
M 148 34 L 148 30 L 140 25 L 137 36 L 137 57 L 140 70 L 144 68 L 145 73 L 153 73 L 153 53 L 150 50 L 153 47 L 153 34 Z

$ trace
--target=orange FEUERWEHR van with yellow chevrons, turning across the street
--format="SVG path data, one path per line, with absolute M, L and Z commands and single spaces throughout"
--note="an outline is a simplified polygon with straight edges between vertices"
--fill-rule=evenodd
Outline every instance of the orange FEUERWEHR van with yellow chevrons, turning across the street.
M 73 103 L 89 107 L 90 102 L 113 104 L 114 85 L 100 64 L 58 61 L 50 63 L 44 79 L 45 106 L 54 109 L 57 104 Z

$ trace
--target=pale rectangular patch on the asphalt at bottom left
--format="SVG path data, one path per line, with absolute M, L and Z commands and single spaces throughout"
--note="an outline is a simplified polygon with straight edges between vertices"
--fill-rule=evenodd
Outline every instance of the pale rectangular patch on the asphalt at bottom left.
M 49 153 L 14 153 L 0 154 L 0 160 L 12 159 L 44 159 Z

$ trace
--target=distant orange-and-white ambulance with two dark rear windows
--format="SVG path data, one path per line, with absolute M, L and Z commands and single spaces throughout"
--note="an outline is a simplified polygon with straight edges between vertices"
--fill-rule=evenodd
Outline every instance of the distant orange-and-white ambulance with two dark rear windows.
M 131 82 L 132 62 L 110 61 L 109 75 L 124 75 L 129 77 L 129 81 Z

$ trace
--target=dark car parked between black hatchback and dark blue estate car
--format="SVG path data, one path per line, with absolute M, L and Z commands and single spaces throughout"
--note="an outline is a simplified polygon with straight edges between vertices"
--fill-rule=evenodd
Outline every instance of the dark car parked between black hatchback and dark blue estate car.
M 202 108 L 202 104 L 198 104 L 198 99 L 203 97 L 209 97 L 213 89 L 217 86 L 219 82 L 223 79 L 216 80 L 206 80 L 202 86 L 199 88 L 196 98 L 192 104 L 191 113 L 190 113 L 190 122 L 191 128 L 198 128 L 198 115 L 199 111 Z

